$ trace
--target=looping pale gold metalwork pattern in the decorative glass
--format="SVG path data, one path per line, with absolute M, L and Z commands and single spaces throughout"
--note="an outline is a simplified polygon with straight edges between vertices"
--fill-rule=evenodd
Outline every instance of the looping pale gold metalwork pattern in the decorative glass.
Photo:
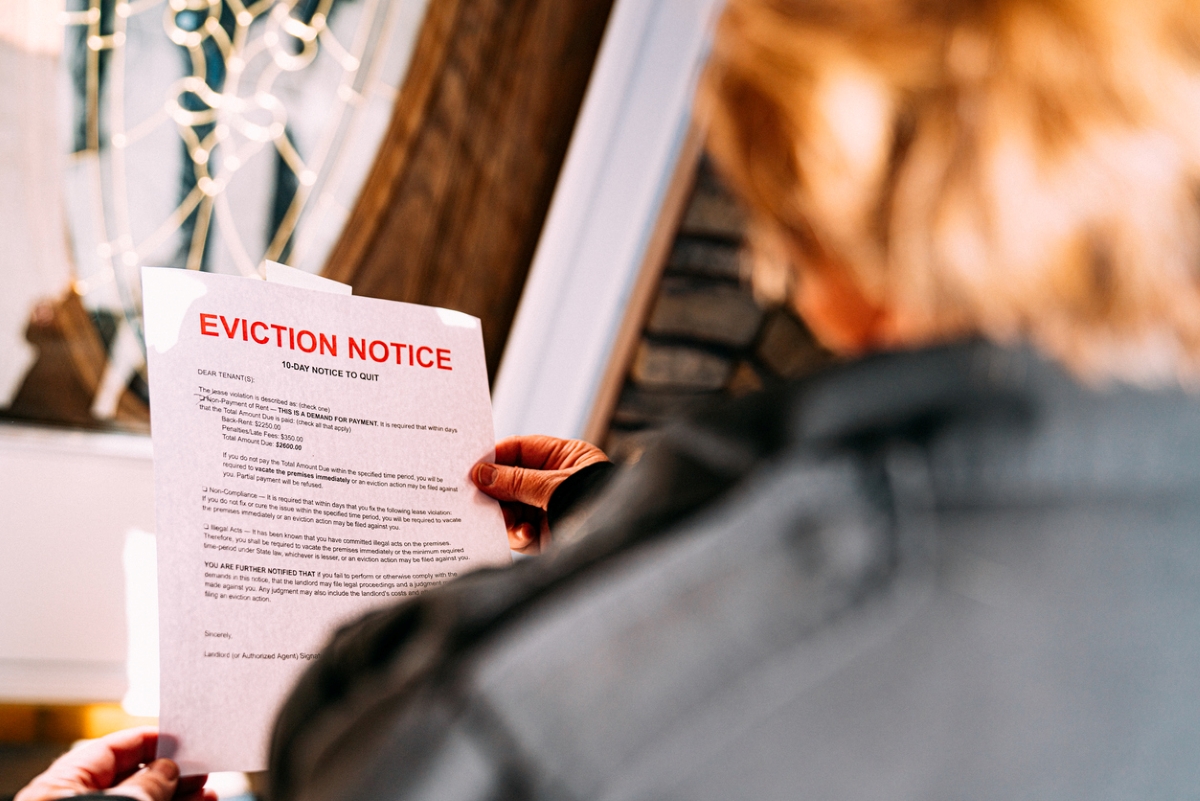
M 108 0 L 112 2 L 112 0 Z M 318 0 L 316 10 L 299 8 L 298 0 L 115 0 L 104 14 L 102 0 L 88 0 L 85 10 L 64 13 L 64 25 L 85 28 L 83 65 L 84 149 L 74 155 L 96 170 L 92 185 L 102 197 L 94 206 L 95 245 L 101 269 L 77 276 L 77 290 L 86 295 L 106 283 L 116 283 L 127 315 L 137 303 L 136 271 L 194 215 L 190 241 L 184 242 L 186 266 L 199 269 L 214 223 L 220 241 L 245 275 L 257 272 L 265 259 L 277 260 L 287 248 L 302 245 L 298 228 L 311 200 L 337 169 L 338 147 L 349 120 L 365 96 L 383 31 L 391 23 L 389 0 L 361 0 L 362 12 L 353 41 L 338 41 L 329 25 L 334 0 Z M 163 35 L 186 50 L 190 73 L 172 83 L 158 109 L 139 120 L 126 119 L 128 26 L 139 14 L 160 14 Z M 107 18 L 106 18 L 107 17 Z M 230 25 L 232 19 L 232 25 Z M 104 23 L 102 25 L 102 23 Z M 106 30 L 107 29 L 107 30 Z M 341 68 L 336 96 L 323 108 L 322 134 L 302 157 L 288 131 L 288 108 L 276 91 L 284 73 L 311 67 L 319 52 Z M 101 88 L 101 54 L 107 53 Z M 212 65 L 218 58 L 222 65 Z M 214 70 L 214 67 L 220 67 Z M 222 76 L 212 82 L 211 76 Z M 212 84 L 218 85 L 214 86 Z M 101 114 L 103 113 L 103 126 Z M 194 182 L 176 207 L 149 233 L 134 237 L 131 225 L 128 149 L 161 126 L 174 126 L 186 150 L 185 169 Z M 103 130 L 102 130 L 103 127 Z M 228 195 L 230 181 L 260 150 L 274 147 L 295 176 L 295 191 L 263 253 L 251 253 L 234 224 L 235 209 Z M 101 159 L 103 153 L 106 158 Z M 170 176 L 178 180 L 176 176 Z M 294 239 L 295 237 L 295 239 Z M 132 279 L 131 279 L 132 278 Z M 136 315 L 136 312 L 134 312 Z

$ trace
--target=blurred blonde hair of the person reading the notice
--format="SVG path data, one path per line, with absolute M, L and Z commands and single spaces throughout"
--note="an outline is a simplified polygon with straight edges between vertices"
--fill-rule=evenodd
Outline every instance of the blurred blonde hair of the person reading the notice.
M 730 0 L 697 109 L 760 290 L 800 253 L 917 342 L 1200 375 L 1194 0 Z

